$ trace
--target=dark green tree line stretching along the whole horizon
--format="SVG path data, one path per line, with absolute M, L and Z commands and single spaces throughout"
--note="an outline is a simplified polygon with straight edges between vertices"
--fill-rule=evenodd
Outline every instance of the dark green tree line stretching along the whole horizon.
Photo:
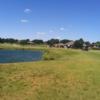
M 47 44 L 49 46 L 53 46 L 54 44 L 58 44 L 58 43 L 66 44 L 66 43 L 68 43 L 70 41 L 72 41 L 72 40 L 69 40 L 69 39 L 63 39 L 63 40 L 50 39 L 50 40 L 47 40 L 47 41 L 43 41 L 41 39 L 34 39 L 34 40 L 23 39 L 23 40 L 18 40 L 18 39 L 13 39 L 13 38 L 0 38 L 0 43 L 11 43 L 11 44 L 16 43 L 16 44 L 21 44 L 21 45 Z M 97 42 L 94 42 L 94 43 L 90 43 L 89 41 L 84 41 L 82 38 L 74 41 L 73 48 L 82 48 L 83 44 L 86 44 L 87 46 L 95 45 L 95 46 L 100 48 L 100 41 L 97 41 Z

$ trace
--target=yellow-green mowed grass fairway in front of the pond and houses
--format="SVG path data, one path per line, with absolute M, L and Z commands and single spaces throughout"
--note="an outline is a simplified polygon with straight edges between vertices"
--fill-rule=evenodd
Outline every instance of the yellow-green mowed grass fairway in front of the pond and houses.
M 100 100 L 100 51 L 49 49 L 44 59 L 0 64 L 0 100 Z

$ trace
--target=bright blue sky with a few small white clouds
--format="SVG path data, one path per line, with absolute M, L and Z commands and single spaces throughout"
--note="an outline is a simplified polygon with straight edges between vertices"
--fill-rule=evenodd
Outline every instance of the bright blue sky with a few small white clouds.
M 0 0 L 0 37 L 100 41 L 100 0 Z

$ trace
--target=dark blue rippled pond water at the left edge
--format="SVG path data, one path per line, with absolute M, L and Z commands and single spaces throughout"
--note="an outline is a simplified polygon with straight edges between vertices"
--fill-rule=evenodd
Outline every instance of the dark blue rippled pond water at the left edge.
M 42 54 L 32 50 L 0 50 L 0 63 L 39 61 Z

